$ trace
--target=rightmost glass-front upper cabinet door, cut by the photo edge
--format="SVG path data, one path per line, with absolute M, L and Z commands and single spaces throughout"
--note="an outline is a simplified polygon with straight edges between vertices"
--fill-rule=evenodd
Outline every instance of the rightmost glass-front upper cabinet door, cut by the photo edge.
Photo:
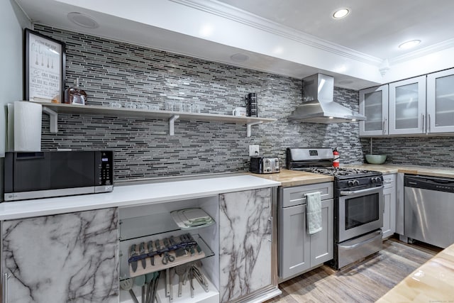
M 454 69 L 427 75 L 427 132 L 454 132 Z

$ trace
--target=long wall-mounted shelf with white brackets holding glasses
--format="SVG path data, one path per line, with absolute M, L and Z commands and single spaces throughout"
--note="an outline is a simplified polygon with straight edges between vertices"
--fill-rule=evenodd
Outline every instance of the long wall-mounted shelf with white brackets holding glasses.
M 270 123 L 277 121 L 271 118 L 256 118 L 245 116 L 231 116 L 223 114 L 202 114 L 202 113 L 187 113 L 182 111 L 150 111 L 143 109 L 125 109 L 108 106 L 97 105 L 72 105 L 72 104 L 56 104 L 48 102 L 33 101 L 33 103 L 41 104 L 43 112 L 50 116 L 50 132 L 58 132 L 58 114 L 89 114 L 89 115 L 111 115 L 126 118 L 152 118 L 169 121 L 169 135 L 175 134 L 175 121 L 207 121 L 207 122 L 223 122 L 237 123 L 246 125 L 246 136 L 250 137 L 251 128 L 254 125 L 261 123 Z

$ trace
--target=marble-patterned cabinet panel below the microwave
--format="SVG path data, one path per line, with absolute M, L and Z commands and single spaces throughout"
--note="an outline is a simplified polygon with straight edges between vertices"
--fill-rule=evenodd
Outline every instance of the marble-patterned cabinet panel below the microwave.
M 118 302 L 117 224 L 116 208 L 2 221 L 2 302 Z

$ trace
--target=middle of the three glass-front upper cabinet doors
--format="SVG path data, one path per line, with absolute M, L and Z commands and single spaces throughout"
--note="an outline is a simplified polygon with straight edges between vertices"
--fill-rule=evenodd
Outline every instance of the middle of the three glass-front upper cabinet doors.
M 426 76 L 389 84 L 389 134 L 426 133 Z

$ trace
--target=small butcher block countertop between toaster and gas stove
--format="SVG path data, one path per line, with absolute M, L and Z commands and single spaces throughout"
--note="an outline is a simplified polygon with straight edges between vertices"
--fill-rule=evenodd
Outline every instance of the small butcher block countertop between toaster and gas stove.
M 262 177 L 267 180 L 281 182 L 282 187 L 292 187 L 299 185 L 307 185 L 322 182 L 332 182 L 332 176 L 314 174 L 313 172 L 299 172 L 297 170 L 281 169 L 277 174 L 252 174 L 257 177 Z

